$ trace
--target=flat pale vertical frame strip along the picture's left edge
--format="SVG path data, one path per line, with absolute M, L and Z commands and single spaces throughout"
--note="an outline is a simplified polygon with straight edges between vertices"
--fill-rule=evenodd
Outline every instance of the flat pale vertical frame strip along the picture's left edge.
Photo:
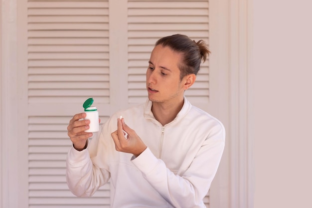
M 1 5 L 1 206 L 17 207 L 18 131 L 17 124 L 17 39 L 16 0 Z

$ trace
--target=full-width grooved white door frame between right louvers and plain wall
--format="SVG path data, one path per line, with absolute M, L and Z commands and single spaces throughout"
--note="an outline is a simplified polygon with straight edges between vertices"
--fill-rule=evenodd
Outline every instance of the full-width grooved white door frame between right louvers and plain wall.
M 252 6 L 252 0 L 209 1 L 209 97 L 227 132 L 211 208 L 253 208 Z

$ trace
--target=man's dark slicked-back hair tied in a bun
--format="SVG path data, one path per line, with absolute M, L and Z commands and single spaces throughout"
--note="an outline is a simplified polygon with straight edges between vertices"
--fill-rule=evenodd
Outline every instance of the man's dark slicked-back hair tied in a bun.
M 200 68 L 201 60 L 205 62 L 210 51 L 203 40 L 195 42 L 188 36 L 182 34 L 174 34 L 162 37 L 157 40 L 156 45 L 168 46 L 173 51 L 182 54 L 182 62 L 178 66 L 180 69 L 180 79 L 188 74 L 195 74 Z

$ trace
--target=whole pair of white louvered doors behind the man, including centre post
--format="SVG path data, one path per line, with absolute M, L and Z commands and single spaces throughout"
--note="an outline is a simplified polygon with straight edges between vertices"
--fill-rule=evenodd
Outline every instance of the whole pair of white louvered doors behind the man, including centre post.
M 28 207 L 109 208 L 109 184 L 92 198 L 76 198 L 68 190 L 68 122 L 83 111 L 82 103 L 89 97 L 94 98 L 102 123 L 114 111 L 144 102 L 145 73 L 156 40 L 183 33 L 208 42 L 208 1 L 24 0 L 24 5 Z M 117 24 L 124 30 L 118 32 Z M 118 38 L 126 40 L 124 48 L 115 47 Z M 186 96 L 208 110 L 208 61 Z M 208 196 L 205 202 L 209 207 Z

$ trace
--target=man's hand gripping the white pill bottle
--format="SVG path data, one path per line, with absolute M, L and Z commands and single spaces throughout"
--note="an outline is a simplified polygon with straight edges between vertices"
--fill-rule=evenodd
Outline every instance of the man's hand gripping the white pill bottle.
M 92 133 L 85 132 L 89 129 L 90 120 L 80 120 L 86 117 L 85 113 L 78 113 L 69 121 L 67 126 L 68 136 L 72 141 L 74 148 L 78 151 L 86 148 L 88 138 L 92 137 Z

